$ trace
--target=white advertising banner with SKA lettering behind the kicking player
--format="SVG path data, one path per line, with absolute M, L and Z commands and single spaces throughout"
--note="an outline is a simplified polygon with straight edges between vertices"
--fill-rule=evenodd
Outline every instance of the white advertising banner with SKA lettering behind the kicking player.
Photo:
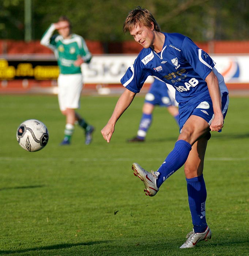
M 82 65 L 84 83 L 119 84 L 125 71 L 137 55 L 95 55 L 90 64 Z M 224 76 L 226 83 L 249 83 L 247 66 L 249 55 L 211 55 L 216 62 L 215 68 Z M 149 77 L 146 82 L 151 83 Z

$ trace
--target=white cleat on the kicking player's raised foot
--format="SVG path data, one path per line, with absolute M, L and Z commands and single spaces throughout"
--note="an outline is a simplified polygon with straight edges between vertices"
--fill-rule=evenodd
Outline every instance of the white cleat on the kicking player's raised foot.
M 133 174 L 144 182 L 146 196 L 154 196 L 159 191 L 159 188 L 156 186 L 158 173 L 154 173 L 153 171 L 147 172 L 138 163 L 132 164 L 132 170 Z

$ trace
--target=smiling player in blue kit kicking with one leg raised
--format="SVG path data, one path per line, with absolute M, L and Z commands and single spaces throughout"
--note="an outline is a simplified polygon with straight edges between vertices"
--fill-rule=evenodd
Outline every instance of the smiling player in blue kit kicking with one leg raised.
M 102 129 L 109 143 L 115 124 L 139 93 L 147 76 L 166 83 L 179 103 L 180 135 L 173 150 L 156 172 L 147 172 L 133 163 L 135 176 L 146 195 L 155 196 L 163 182 L 184 165 L 193 231 L 180 248 L 194 247 L 211 238 L 205 218 L 207 191 L 203 165 L 210 131 L 220 132 L 228 108 L 228 90 L 215 62 L 191 39 L 177 33 L 162 33 L 152 14 L 141 7 L 129 12 L 123 27 L 144 49 L 121 79 L 126 88 Z

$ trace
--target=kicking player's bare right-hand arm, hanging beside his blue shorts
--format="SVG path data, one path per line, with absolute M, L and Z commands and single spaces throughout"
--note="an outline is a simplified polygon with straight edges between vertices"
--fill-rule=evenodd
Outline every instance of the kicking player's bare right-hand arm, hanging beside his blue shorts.
M 210 97 L 212 99 L 213 108 L 214 108 L 214 119 L 211 122 L 210 129 L 211 131 L 219 131 L 223 127 L 224 118 L 221 110 L 221 97 L 218 78 L 213 71 L 205 79 L 208 85 L 208 90 Z

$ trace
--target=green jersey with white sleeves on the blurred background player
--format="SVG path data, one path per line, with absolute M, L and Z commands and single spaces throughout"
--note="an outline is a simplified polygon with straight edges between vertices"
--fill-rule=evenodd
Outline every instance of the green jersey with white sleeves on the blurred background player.
M 81 68 L 74 65 L 74 62 L 81 57 L 85 63 L 91 60 L 86 42 L 83 37 L 71 34 L 71 37 L 64 39 L 61 35 L 53 35 L 54 24 L 51 24 L 41 38 L 41 44 L 53 50 L 58 61 L 61 74 L 79 74 Z

